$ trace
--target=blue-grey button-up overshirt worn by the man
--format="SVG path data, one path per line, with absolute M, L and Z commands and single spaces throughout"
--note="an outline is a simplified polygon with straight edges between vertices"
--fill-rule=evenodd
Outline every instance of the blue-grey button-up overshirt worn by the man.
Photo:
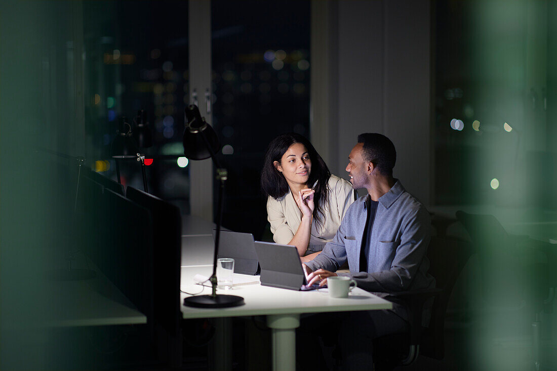
M 323 253 L 307 263 L 312 270 L 336 271 L 348 261 L 358 287 L 374 293 L 433 288 L 426 257 L 430 220 L 426 208 L 409 194 L 400 181 L 379 198 L 370 238 L 368 271 L 359 272 L 361 239 L 367 219 L 365 198 L 354 201 L 339 230 Z

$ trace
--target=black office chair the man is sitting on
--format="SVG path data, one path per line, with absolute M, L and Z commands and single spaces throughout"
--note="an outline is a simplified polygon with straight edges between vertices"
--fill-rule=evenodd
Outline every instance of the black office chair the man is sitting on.
M 387 300 L 402 301 L 408 310 L 409 331 L 389 334 L 373 341 L 375 370 L 392 370 L 412 364 L 420 354 L 434 359 L 444 357 L 444 320 L 451 291 L 472 255 L 467 241 L 433 236 L 427 251 L 429 273 L 436 288 L 392 293 Z M 431 299 L 434 298 L 434 299 Z M 424 304 L 431 306 L 429 325 L 422 324 Z M 403 345 L 401 347 L 401 344 Z

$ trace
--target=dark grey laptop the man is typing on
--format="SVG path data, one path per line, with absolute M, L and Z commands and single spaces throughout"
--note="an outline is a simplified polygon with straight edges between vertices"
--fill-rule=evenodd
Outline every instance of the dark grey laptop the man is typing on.
M 253 246 L 261 265 L 261 285 L 302 291 L 319 289 L 319 284 L 307 286 L 295 246 L 260 241 Z

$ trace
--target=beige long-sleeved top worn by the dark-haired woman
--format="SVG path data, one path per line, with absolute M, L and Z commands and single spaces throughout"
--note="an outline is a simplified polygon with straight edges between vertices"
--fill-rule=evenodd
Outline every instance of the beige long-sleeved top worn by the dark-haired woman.
M 307 254 L 323 250 L 323 246 L 333 239 L 348 206 L 354 202 L 354 189 L 350 182 L 331 175 L 328 185 L 329 200 L 324 205 L 324 217 L 321 225 L 315 218 L 312 221 Z M 278 199 L 268 197 L 267 220 L 271 224 L 273 240 L 277 244 L 286 245 L 294 238 L 301 219 L 302 212 L 296 205 L 292 191 Z

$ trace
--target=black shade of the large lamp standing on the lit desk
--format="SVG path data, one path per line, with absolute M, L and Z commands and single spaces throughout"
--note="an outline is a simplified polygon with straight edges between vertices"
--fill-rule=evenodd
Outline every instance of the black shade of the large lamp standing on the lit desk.
M 217 133 L 201 115 L 197 106 L 185 108 L 186 125 L 184 129 L 184 155 L 191 160 L 205 160 L 221 149 Z

